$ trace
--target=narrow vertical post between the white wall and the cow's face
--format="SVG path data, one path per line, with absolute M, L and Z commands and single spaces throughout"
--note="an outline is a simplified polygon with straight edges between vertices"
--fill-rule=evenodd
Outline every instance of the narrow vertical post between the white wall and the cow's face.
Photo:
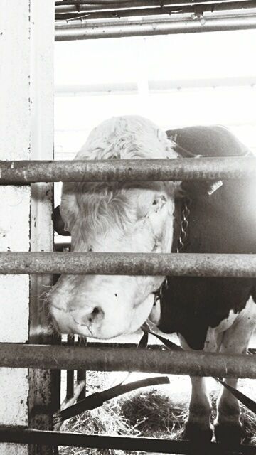
M 31 159 L 53 159 L 54 1 L 30 0 L 31 14 Z M 31 185 L 31 251 L 53 251 L 53 183 Z M 48 320 L 46 294 L 52 275 L 31 275 L 29 342 L 58 342 Z M 28 424 L 52 429 L 60 407 L 60 371 L 29 370 Z M 46 441 L 47 444 L 47 441 Z M 51 446 L 30 446 L 30 455 L 52 455 Z

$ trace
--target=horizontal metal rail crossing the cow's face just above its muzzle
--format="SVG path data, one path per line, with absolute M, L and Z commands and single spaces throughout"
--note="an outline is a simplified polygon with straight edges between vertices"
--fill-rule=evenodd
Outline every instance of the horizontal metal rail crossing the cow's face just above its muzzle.
M 0 274 L 256 277 L 256 255 L 204 253 L 0 252 Z

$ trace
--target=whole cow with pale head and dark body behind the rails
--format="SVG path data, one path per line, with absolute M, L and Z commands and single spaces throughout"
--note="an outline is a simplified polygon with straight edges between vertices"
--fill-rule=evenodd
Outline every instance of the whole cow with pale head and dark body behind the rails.
M 223 127 L 189 127 L 167 135 L 142 117 L 114 117 L 95 128 L 75 159 L 175 159 L 245 155 Z M 217 188 L 217 189 L 216 189 Z M 177 250 L 181 209 L 189 201 L 182 252 L 256 252 L 252 182 L 64 183 L 60 214 L 78 252 Z M 174 219 L 175 218 L 175 219 Z M 49 295 L 62 333 L 112 338 L 149 319 L 177 332 L 184 349 L 242 353 L 255 327 L 254 279 L 63 275 Z M 161 287 L 161 299 L 154 294 Z M 253 300 L 252 300 L 253 299 Z M 210 440 L 211 406 L 204 378 L 191 378 L 185 439 Z M 236 379 L 228 379 L 235 386 Z M 239 405 L 225 390 L 215 420 L 217 441 L 240 440 Z

